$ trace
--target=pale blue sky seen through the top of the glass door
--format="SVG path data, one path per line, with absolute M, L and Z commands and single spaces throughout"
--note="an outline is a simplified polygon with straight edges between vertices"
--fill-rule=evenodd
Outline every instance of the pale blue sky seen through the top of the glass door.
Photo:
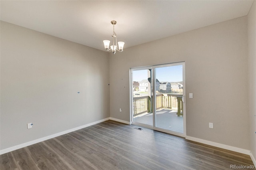
M 148 79 L 148 69 L 132 71 L 133 81 Z M 158 81 L 178 82 L 182 81 L 182 65 L 156 68 Z

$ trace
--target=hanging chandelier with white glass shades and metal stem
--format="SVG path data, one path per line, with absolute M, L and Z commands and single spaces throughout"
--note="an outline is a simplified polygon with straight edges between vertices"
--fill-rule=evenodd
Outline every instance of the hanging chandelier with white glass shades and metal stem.
M 112 53 L 115 54 L 116 53 L 116 50 L 117 51 L 124 51 L 124 42 L 118 42 L 117 43 L 117 38 L 116 38 L 116 33 L 115 33 L 115 25 L 116 25 L 116 21 L 111 21 L 111 24 L 113 25 L 113 34 L 112 34 L 112 37 L 113 37 L 113 45 L 110 46 L 109 48 L 109 44 L 110 44 L 110 41 L 109 40 L 103 40 L 103 43 L 104 43 L 104 47 L 107 51 L 109 51 L 110 49 L 112 49 Z M 118 48 L 117 48 L 117 44 L 118 44 Z

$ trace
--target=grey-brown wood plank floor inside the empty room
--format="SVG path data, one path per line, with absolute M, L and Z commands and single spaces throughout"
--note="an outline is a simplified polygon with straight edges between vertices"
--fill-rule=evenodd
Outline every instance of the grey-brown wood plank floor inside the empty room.
M 105 121 L 0 155 L 1 170 L 230 170 L 250 156 Z

